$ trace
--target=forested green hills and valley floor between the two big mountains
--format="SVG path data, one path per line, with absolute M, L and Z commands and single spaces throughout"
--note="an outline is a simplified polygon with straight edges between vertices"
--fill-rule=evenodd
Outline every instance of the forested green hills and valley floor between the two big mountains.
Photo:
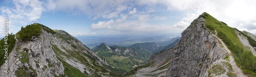
M 101 43 L 92 50 L 100 57 L 108 60 L 113 67 L 130 71 L 137 66 L 146 64 L 151 54 L 159 49 L 161 47 L 157 43 L 145 42 L 136 43 L 129 47 L 108 46 L 106 43 Z

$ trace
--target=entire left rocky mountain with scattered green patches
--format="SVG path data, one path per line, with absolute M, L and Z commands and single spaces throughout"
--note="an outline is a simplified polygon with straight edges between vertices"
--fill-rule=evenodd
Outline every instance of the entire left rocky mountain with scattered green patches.
M 20 40 L 22 31 L 16 34 L 20 39 L 9 55 L 8 73 L 1 69 L 0 76 L 110 76 L 112 70 L 118 71 L 67 32 L 30 25 L 35 26 L 41 31 L 36 38 Z

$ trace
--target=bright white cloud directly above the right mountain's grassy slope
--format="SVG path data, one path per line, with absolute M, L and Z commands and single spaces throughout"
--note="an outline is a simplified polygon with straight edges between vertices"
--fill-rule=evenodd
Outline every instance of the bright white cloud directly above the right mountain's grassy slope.
M 200 12 L 207 12 L 230 27 L 253 32 L 256 30 L 253 25 L 256 22 L 256 10 L 252 10 L 256 6 L 253 3 L 256 1 L 208 1 L 205 7 L 201 7 Z

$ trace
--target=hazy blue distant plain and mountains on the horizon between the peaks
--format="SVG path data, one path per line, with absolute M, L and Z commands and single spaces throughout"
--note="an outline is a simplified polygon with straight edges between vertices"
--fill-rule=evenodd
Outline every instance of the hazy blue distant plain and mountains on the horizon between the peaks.
M 89 48 L 93 48 L 102 42 L 108 43 L 108 45 L 118 45 L 128 47 L 135 43 L 144 43 L 144 42 L 155 42 L 160 46 L 167 46 L 168 44 L 174 42 L 180 37 L 172 36 L 120 36 L 120 37 L 109 37 L 109 36 L 80 36 L 76 37 L 84 45 L 87 45 Z

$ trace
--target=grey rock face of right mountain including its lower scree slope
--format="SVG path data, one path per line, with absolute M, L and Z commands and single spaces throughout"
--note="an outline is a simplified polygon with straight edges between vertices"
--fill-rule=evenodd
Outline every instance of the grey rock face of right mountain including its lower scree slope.
M 138 70 L 133 76 L 211 75 L 208 71 L 212 66 L 224 65 L 223 62 L 227 62 L 223 59 L 227 52 L 216 35 L 205 27 L 204 22 L 201 16 L 191 22 L 173 48 L 152 55 L 148 63 L 154 64 Z

